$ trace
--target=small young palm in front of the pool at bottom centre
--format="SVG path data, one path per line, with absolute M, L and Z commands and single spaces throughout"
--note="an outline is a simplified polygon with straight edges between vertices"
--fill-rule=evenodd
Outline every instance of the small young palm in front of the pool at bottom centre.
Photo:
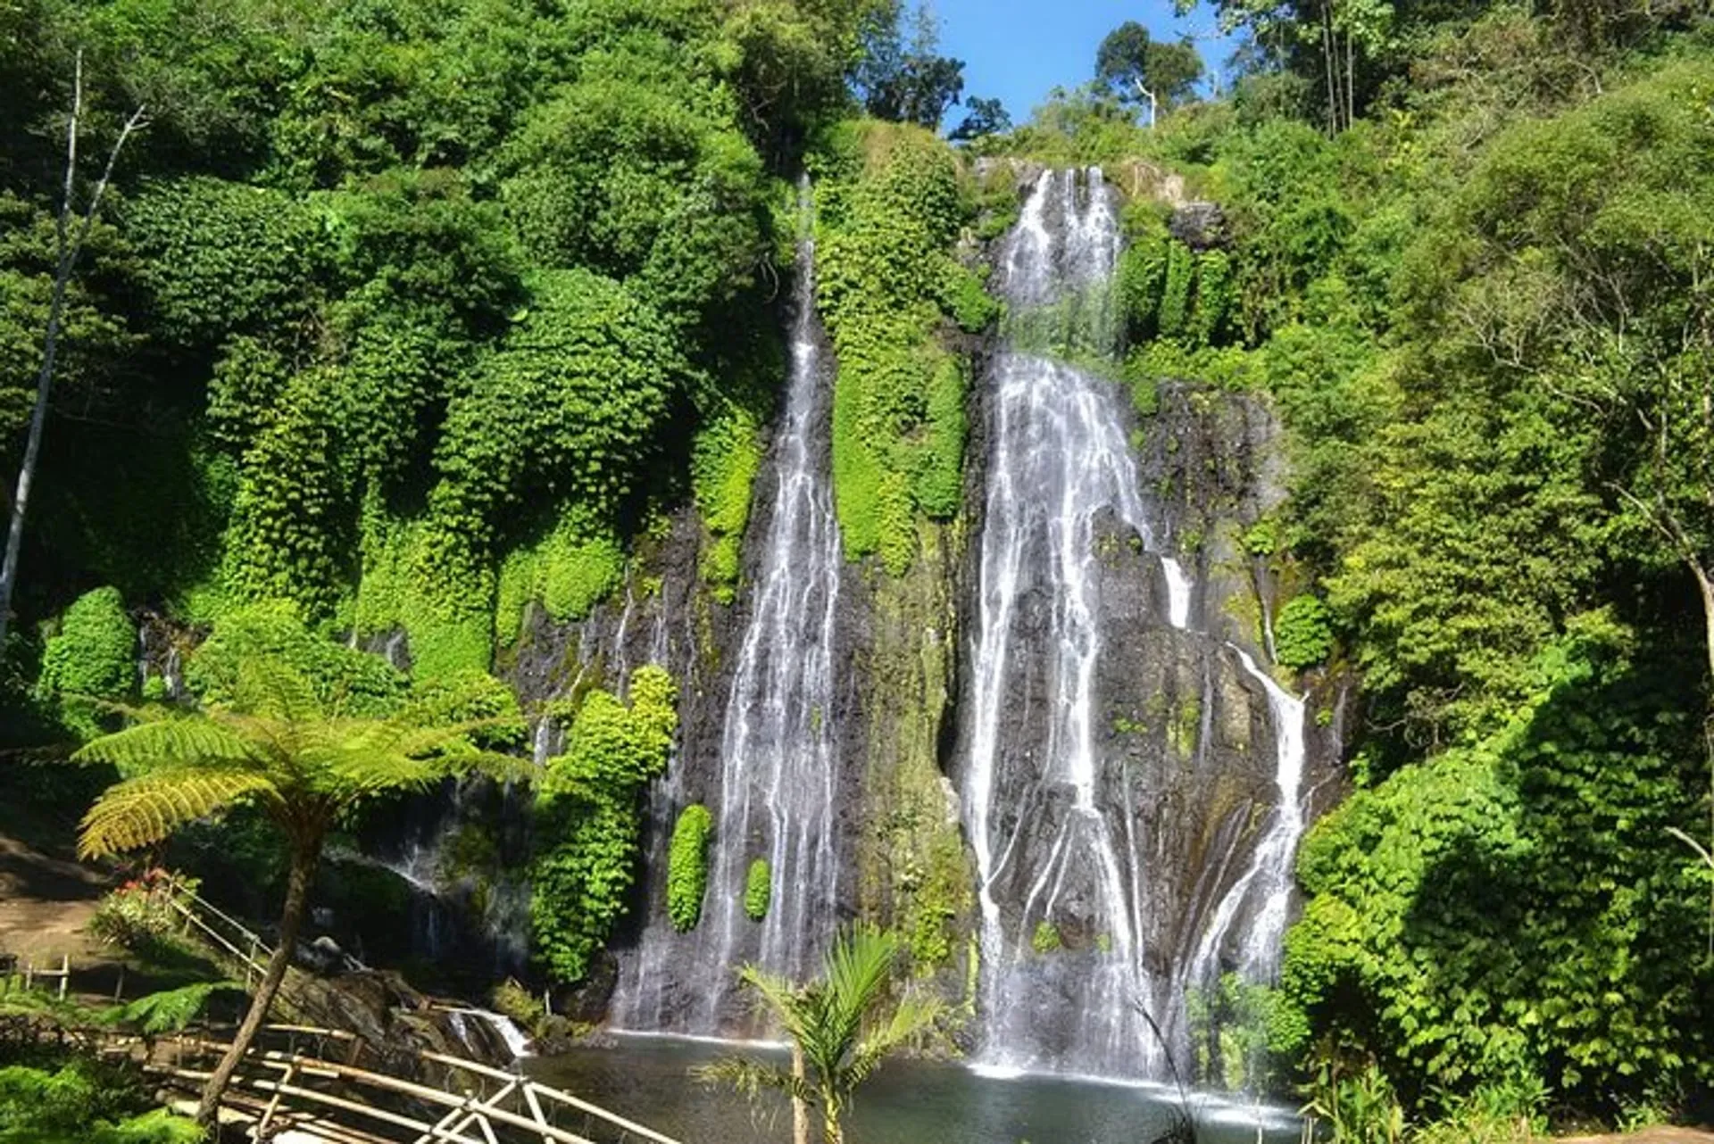
M 946 1014 L 936 997 L 895 995 L 898 950 L 898 935 L 859 927 L 833 942 L 821 978 L 807 985 L 746 966 L 739 980 L 792 1038 L 792 1069 L 730 1057 L 703 1069 L 703 1079 L 751 1098 L 785 1093 L 797 1144 L 807 1144 L 811 1106 L 821 1111 L 824 1144 L 843 1144 L 840 1117 L 857 1086 L 890 1055 L 934 1034 Z

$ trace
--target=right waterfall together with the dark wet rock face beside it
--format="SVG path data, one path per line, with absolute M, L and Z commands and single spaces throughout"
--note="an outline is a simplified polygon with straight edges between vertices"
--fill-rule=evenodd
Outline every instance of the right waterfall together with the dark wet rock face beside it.
M 1111 337 L 1116 217 L 1099 173 L 1040 176 L 999 259 L 1013 329 L 1076 298 L 1068 341 Z M 1183 1048 L 1188 990 L 1272 971 L 1306 822 L 1304 704 L 1256 666 L 1232 562 L 1277 498 L 1272 432 L 1260 408 L 1183 387 L 1140 425 L 1116 385 L 1037 343 L 989 370 L 963 608 L 977 1055 L 1160 1075 L 1167 1045 L 1140 1010 Z

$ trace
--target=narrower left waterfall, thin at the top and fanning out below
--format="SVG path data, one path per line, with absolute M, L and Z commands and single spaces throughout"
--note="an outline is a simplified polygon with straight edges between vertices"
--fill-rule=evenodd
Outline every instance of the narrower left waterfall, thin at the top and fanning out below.
M 830 355 L 814 310 L 809 185 L 790 378 L 758 503 L 761 562 L 732 671 L 720 745 L 708 891 L 699 927 L 674 933 L 656 916 L 622 966 L 614 1022 L 679 1033 L 739 1031 L 737 968 L 756 962 L 807 974 L 836 928 L 840 831 L 835 819 L 838 735 L 838 524 L 828 462 Z M 689 801 L 677 779 L 658 798 L 674 813 Z M 658 813 L 655 822 L 665 819 Z M 761 921 L 744 909 L 751 863 L 768 861 L 771 904 Z

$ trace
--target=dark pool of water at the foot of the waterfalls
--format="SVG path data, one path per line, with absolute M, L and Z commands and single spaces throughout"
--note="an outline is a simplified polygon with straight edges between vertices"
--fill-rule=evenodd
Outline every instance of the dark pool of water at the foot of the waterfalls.
M 680 1038 L 620 1036 L 610 1048 L 578 1048 L 528 1062 L 531 1075 L 593 1099 L 686 1144 L 790 1144 L 783 1099 L 752 1108 L 730 1091 L 691 1079 L 720 1055 L 785 1055 L 768 1048 Z M 1171 1101 L 1171 1103 L 1169 1103 Z M 956 1064 L 900 1062 L 857 1094 L 848 1144 L 1152 1144 L 1172 1123 L 1164 1086 L 1064 1077 L 982 1075 Z M 1258 1110 L 1191 1093 L 1198 1144 L 1294 1144 L 1289 1110 Z M 574 1127 L 574 1125 L 566 1125 Z

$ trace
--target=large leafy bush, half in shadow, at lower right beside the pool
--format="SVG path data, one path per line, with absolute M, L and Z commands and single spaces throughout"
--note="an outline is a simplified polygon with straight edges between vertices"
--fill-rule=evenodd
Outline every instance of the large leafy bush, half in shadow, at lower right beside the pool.
M 1633 664 L 1599 617 L 1577 632 L 1503 731 L 1399 769 L 1303 848 L 1282 988 L 1411 1103 L 1707 1082 L 1683 956 L 1702 903 L 1661 848 L 1693 813 L 1695 728 L 1657 706 L 1673 668 Z

